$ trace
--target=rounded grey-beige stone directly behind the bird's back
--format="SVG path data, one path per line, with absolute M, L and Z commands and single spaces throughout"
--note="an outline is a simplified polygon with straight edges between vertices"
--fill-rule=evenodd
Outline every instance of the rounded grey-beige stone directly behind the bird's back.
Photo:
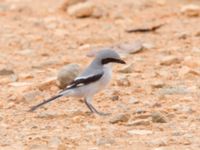
M 61 89 L 66 88 L 66 86 L 74 80 L 80 73 L 80 67 L 77 64 L 69 64 L 64 66 L 57 75 L 58 86 Z

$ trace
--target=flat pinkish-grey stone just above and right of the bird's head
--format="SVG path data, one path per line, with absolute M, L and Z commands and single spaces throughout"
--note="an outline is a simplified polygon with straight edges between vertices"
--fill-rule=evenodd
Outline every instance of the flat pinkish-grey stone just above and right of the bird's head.
M 135 41 L 134 43 L 124 43 L 118 46 L 119 49 L 122 49 L 123 52 L 129 54 L 135 54 L 143 50 L 143 44 L 141 41 Z

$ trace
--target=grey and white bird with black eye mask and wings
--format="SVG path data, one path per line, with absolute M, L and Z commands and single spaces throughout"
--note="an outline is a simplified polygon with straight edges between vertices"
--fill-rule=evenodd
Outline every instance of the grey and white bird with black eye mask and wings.
M 122 60 L 119 54 L 113 49 L 107 48 L 98 51 L 89 66 L 65 89 L 58 92 L 55 96 L 31 107 L 29 111 L 33 112 L 44 104 L 63 96 L 75 96 L 84 98 L 84 103 L 89 108 L 91 113 L 108 115 L 109 113 L 98 111 L 92 105 L 92 100 L 94 95 L 101 90 L 104 90 L 111 81 L 113 63 L 126 64 L 126 62 Z

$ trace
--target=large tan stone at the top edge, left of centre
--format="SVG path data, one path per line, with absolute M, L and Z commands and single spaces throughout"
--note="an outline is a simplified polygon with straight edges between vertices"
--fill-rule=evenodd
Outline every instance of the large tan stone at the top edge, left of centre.
M 92 2 L 83 2 L 68 7 L 68 14 L 77 18 L 90 17 L 94 11 L 94 4 Z

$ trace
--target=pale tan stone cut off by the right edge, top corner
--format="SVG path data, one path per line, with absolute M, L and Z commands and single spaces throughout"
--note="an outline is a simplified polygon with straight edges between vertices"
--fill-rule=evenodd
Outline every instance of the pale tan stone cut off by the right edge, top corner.
M 198 17 L 200 16 L 200 6 L 195 4 L 182 6 L 181 13 L 188 17 Z

